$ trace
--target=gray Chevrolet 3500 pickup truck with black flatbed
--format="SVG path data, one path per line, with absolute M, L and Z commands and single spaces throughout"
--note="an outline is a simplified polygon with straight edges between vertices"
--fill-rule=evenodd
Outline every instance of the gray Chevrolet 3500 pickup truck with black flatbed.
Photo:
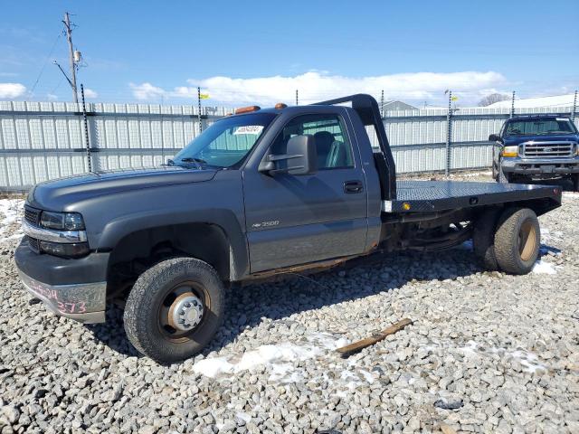
M 396 181 L 377 103 L 354 95 L 238 109 L 164 166 L 37 184 L 14 258 L 60 316 L 103 322 L 124 300 L 130 342 L 170 363 L 211 341 L 233 284 L 469 239 L 484 268 L 527 273 L 536 216 L 560 203 L 553 186 Z

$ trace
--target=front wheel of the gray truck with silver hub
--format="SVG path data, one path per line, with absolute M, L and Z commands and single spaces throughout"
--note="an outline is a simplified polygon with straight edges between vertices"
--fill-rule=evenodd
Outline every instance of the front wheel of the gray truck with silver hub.
M 167 259 L 135 282 L 125 330 L 140 353 L 157 362 L 178 362 L 211 341 L 224 310 L 223 282 L 212 266 L 199 259 Z

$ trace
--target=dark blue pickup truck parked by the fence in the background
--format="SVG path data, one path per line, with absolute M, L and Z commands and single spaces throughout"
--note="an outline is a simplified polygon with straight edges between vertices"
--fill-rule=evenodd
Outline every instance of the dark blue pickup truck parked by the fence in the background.
M 508 119 L 495 143 L 493 176 L 498 182 L 571 178 L 579 192 L 579 131 L 565 116 Z

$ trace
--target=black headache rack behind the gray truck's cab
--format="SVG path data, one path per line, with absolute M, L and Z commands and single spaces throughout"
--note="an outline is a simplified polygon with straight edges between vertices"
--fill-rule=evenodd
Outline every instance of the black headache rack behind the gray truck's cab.
M 396 166 L 394 157 L 390 150 L 388 137 L 384 130 L 384 123 L 380 117 L 380 109 L 374 97 L 364 93 L 357 93 L 348 97 L 338 99 L 328 99 L 327 101 L 317 102 L 314 106 L 337 106 L 345 105 L 354 109 L 362 123 L 367 126 L 374 126 L 378 144 L 382 152 L 374 153 L 374 160 L 378 175 L 380 175 L 380 186 L 382 190 L 382 199 L 391 201 L 396 197 Z

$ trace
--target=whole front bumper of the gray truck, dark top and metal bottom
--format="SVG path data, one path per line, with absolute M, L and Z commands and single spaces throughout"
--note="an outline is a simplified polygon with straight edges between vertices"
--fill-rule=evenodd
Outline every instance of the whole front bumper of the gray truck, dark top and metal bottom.
M 38 255 L 21 242 L 14 260 L 24 287 L 59 316 L 81 323 L 105 321 L 108 253 L 82 259 Z

